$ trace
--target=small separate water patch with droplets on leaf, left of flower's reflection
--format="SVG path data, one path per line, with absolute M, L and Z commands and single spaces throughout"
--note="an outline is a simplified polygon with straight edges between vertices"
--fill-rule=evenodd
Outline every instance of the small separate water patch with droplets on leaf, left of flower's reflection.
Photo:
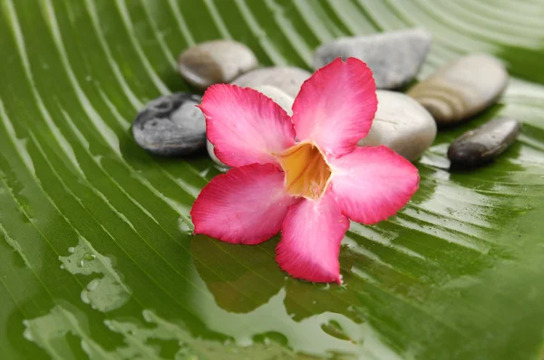
M 121 272 L 113 268 L 110 258 L 94 250 L 90 242 L 80 238 L 78 245 L 68 248 L 68 252 L 68 256 L 59 256 L 63 270 L 72 274 L 99 275 L 82 291 L 85 304 L 107 312 L 121 308 L 131 298 L 131 289 L 123 283 Z

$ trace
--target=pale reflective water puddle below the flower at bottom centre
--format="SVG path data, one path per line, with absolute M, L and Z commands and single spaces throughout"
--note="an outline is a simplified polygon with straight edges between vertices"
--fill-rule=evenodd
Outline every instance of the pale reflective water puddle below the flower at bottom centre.
M 295 314 L 287 313 L 286 297 L 287 290 L 280 289 L 267 303 L 243 314 L 200 301 L 199 315 L 211 329 L 233 336 L 238 346 L 255 344 L 258 334 L 274 333 L 285 336 L 289 346 L 299 354 L 335 354 L 350 360 L 400 359 L 369 324 L 357 324 L 345 315 L 329 311 L 296 319 Z M 387 357 L 380 357 L 384 354 Z

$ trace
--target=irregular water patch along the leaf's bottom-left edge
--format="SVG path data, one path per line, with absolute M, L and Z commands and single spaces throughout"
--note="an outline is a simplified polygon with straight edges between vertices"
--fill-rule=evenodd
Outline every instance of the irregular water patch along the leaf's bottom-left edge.
M 151 310 L 144 310 L 139 322 L 105 320 L 104 324 L 113 333 L 123 336 L 123 345 L 112 350 L 105 349 L 92 339 L 87 319 L 78 309 L 70 305 L 57 305 L 43 317 L 24 320 L 24 337 L 42 347 L 53 358 L 73 358 L 67 335 L 81 340 L 83 352 L 94 359 L 162 359 L 161 351 L 175 345 L 174 359 L 295 359 L 296 355 L 284 346 L 269 342 L 239 347 L 231 342 L 195 339 L 181 324 L 167 321 Z M 171 346 L 170 346 L 171 347 Z

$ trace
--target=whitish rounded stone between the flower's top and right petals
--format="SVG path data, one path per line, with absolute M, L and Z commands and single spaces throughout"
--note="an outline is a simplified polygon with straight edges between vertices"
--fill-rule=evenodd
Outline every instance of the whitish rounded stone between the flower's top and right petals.
M 400 92 L 377 90 L 378 109 L 368 135 L 360 147 L 384 145 L 414 161 L 436 137 L 436 123 L 429 111 Z

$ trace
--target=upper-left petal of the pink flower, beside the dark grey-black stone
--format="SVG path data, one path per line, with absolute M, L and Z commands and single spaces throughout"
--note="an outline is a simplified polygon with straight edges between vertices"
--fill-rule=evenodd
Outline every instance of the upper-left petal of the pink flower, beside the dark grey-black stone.
M 291 118 L 257 90 L 212 85 L 204 93 L 200 109 L 215 155 L 228 166 L 277 164 L 272 153 L 295 145 Z

